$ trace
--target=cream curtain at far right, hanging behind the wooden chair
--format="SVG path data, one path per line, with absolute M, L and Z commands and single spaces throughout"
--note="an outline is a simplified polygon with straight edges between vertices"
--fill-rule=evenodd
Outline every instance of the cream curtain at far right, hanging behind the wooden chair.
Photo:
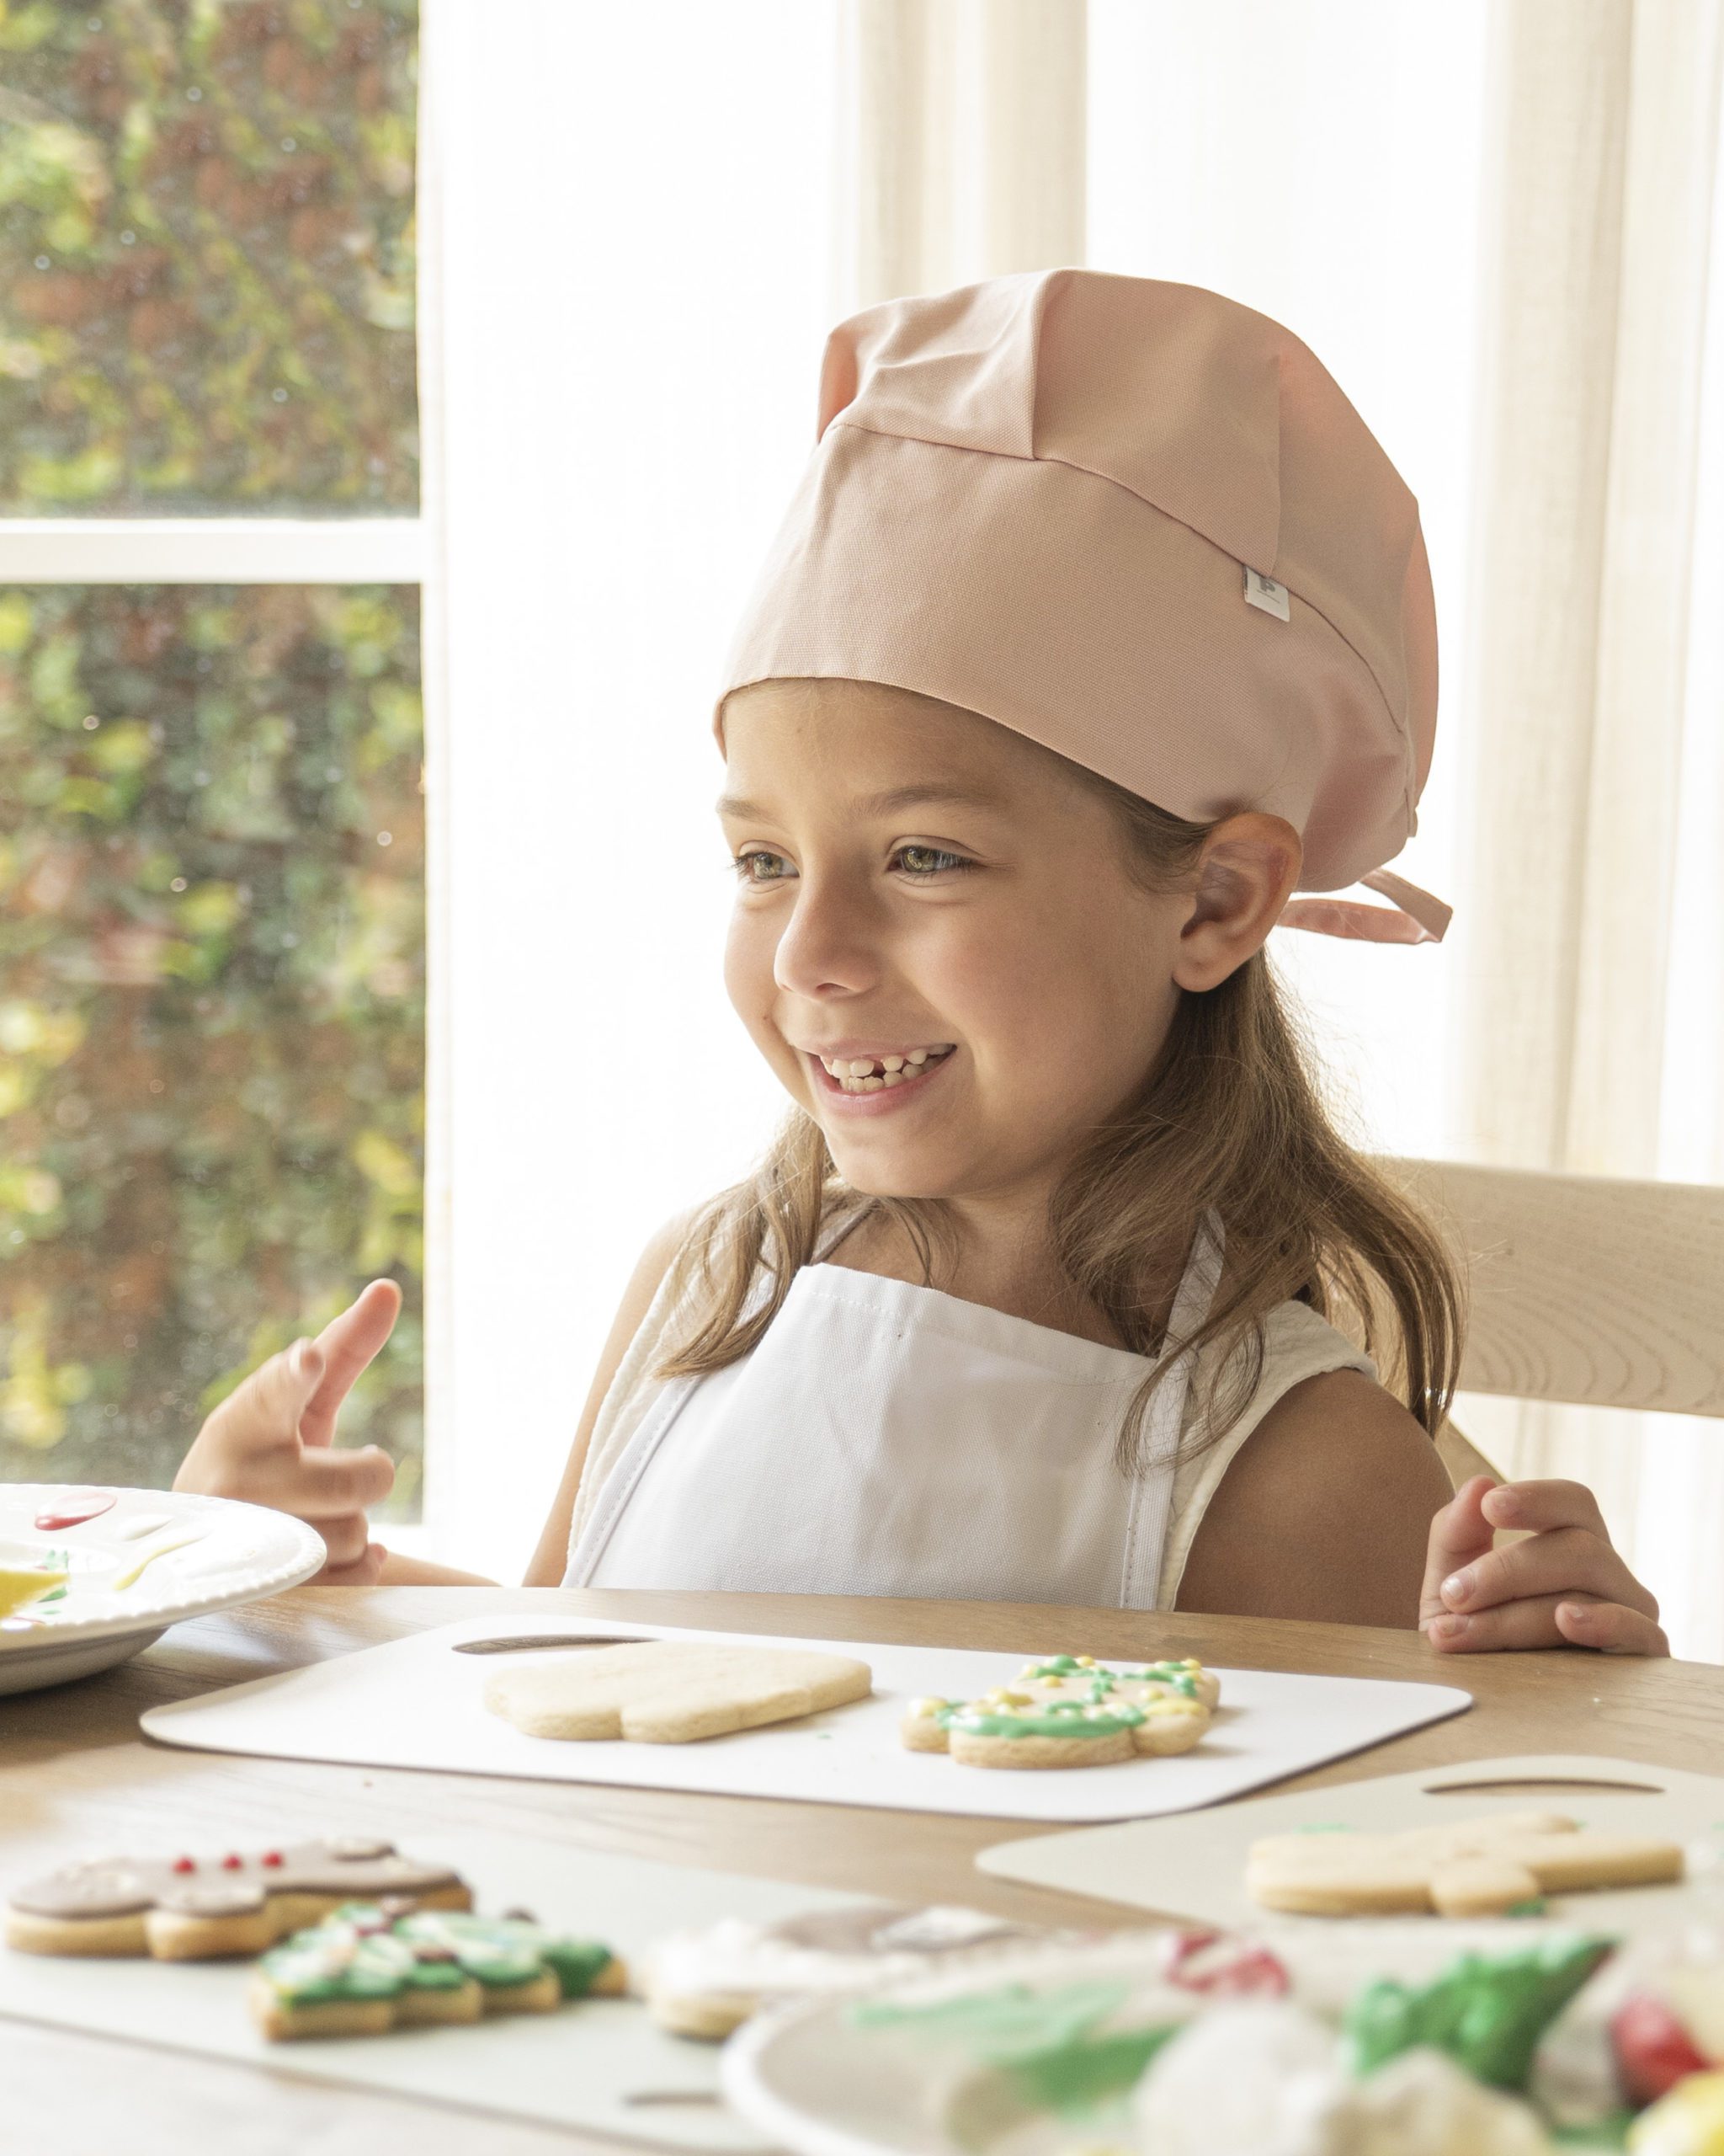
M 1715 1181 L 1724 6 L 1517 0 L 1491 60 L 1452 1141 Z M 1457 1419 L 1515 1473 L 1593 1483 L 1679 1651 L 1724 1658 L 1718 1425 Z

